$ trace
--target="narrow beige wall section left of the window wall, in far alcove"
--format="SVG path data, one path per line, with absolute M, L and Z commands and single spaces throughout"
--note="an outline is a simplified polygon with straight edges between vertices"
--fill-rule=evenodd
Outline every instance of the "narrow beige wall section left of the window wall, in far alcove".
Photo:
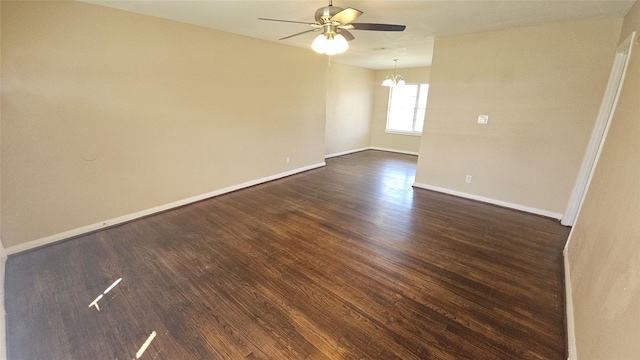
M 332 62 L 327 77 L 325 154 L 369 147 L 375 71 Z

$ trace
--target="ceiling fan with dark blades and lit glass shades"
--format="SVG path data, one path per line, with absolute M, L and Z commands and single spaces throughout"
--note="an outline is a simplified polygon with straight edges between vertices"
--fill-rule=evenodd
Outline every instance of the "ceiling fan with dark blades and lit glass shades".
M 362 15 L 362 11 L 354 8 L 343 9 L 333 6 L 333 0 L 329 0 L 329 6 L 321 7 L 316 10 L 316 22 L 302 22 L 292 20 L 267 19 L 258 18 L 265 21 L 278 21 L 296 24 L 305 24 L 312 29 L 305 30 L 293 35 L 285 36 L 278 40 L 285 40 L 294 36 L 310 33 L 321 32 L 311 44 L 311 48 L 320 53 L 327 55 L 340 54 L 349 48 L 349 43 L 355 39 L 349 30 L 372 30 L 372 31 L 404 31 L 405 25 L 392 24 L 371 24 L 371 23 L 352 23 Z

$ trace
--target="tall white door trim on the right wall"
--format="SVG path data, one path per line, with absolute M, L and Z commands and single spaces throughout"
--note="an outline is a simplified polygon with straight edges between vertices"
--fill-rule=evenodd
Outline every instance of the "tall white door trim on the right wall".
M 598 159 L 600 158 L 600 152 L 604 145 L 604 140 L 607 137 L 609 131 L 609 125 L 611 119 L 616 110 L 618 104 L 618 98 L 620 97 L 620 91 L 624 83 L 624 77 L 627 73 L 627 66 L 629 64 L 629 58 L 631 55 L 631 48 L 633 46 L 633 39 L 636 33 L 633 32 L 629 37 L 623 41 L 616 49 L 613 66 L 611 67 L 611 73 L 609 74 L 609 82 L 600 104 L 600 110 L 598 111 L 598 117 L 596 123 L 591 132 L 591 138 L 589 145 L 585 151 L 582 159 L 582 165 L 576 178 L 576 182 L 571 192 L 571 197 L 567 203 L 567 208 L 564 211 L 562 217 L 562 225 L 573 226 L 576 222 L 578 212 L 582 206 L 584 196 L 589 188 L 591 177 L 593 176 L 593 170 L 595 169 Z

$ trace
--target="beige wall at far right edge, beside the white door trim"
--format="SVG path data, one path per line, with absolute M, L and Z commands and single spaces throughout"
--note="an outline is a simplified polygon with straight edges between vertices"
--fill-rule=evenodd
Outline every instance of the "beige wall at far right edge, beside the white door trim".
M 622 42 L 640 32 L 640 3 Z M 640 44 L 568 244 L 577 358 L 640 359 Z

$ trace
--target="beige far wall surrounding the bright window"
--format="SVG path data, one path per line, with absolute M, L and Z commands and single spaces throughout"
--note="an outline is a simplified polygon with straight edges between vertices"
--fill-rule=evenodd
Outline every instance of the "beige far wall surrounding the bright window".
M 380 84 L 390 74 L 393 74 L 393 69 L 376 71 L 373 114 L 371 117 L 371 147 L 417 154 L 420 149 L 420 136 L 385 133 L 389 106 L 389 88 L 380 86 Z M 407 83 L 428 83 L 430 68 L 398 69 L 396 74 L 402 75 Z

